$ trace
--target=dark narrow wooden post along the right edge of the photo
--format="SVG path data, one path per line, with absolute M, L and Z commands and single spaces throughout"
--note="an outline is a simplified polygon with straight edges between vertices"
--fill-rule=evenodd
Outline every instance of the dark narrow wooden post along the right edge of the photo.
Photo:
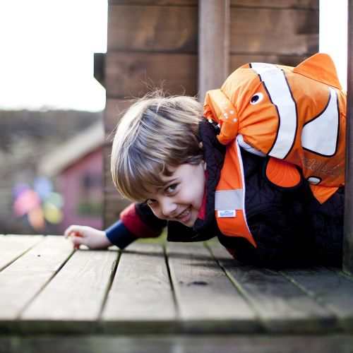
M 353 0 L 348 0 L 347 147 L 343 270 L 353 275 Z

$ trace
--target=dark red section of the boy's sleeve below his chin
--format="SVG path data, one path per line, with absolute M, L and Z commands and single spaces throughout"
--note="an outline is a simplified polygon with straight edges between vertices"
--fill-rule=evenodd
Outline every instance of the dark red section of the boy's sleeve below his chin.
M 162 233 L 163 228 L 152 229 L 136 212 L 136 203 L 131 203 L 120 213 L 120 220 L 129 232 L 138 238 L 155 238 Z

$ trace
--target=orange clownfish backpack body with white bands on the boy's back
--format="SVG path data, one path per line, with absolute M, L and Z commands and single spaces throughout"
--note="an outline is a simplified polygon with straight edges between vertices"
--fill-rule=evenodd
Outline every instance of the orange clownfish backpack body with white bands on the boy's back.
M 296 164 L 321 203 L 332 188 L 345 185 L 346 107 L 346 92 L 327 54 L 296 68 L 246 64 L 205 97 L 205 116 L 221 127 L 220 143 L 241 134 L 265 155 Z

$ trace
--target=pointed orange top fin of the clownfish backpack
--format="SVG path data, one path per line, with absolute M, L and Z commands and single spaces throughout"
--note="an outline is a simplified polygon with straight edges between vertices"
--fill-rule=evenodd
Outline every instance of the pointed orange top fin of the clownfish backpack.
M 293 68 L 292 71 L 342 90 L 335 64 L 328 54 L 314 54 Z

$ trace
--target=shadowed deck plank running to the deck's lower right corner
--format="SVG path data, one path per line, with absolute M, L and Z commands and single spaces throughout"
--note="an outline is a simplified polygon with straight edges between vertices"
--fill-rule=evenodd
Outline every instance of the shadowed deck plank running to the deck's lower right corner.
M 305 292 L 332 311 L 345 330 L 353 329 L 353 278 L 323 267 L 280 271 Z

